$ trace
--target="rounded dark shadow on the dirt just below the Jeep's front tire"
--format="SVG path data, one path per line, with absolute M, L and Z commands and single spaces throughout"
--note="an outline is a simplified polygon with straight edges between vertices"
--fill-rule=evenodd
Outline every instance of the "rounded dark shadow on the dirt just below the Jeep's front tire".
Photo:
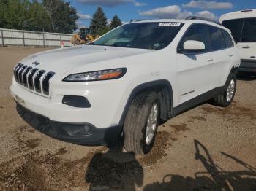
M 91 159 L 85 175 L 89 190 L 135 190 L 143 184 L 143 167 L 135 155 L 122 152 L 121 142 Z

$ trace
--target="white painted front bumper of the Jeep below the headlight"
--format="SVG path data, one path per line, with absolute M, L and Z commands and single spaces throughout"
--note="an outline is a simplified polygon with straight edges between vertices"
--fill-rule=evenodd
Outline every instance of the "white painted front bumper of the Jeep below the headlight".
M 90 123 L 97 128 L 113 127 L 119 124 L 128 94 L 124 87 L 110 82 L 60 82 L 51 85 L 50 98 L 31 91 L 13 81 L 11 95 L 20 105 L 30 111 L 48 117 L 51 121 L 64 123 Z M 118 88 L 117 88 L 118 87 Z M 63 103 L 64 95 L 86 98 L 90 107 L 81 108 Z

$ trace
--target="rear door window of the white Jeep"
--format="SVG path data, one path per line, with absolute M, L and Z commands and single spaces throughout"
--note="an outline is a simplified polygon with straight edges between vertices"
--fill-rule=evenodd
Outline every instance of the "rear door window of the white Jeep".
M 210 35 L 210 50 L 222 50 L 226 48 L 225 39 L 220 28 L 214 26 L 208 26 L 208 32 Z

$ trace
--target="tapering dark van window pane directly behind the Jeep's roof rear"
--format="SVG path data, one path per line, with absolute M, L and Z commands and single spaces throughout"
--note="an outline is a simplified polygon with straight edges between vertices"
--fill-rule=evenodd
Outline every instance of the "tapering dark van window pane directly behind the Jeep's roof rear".
M 230 29 L 236 42 L 240 42 L 244 19 L 225 20 L 222 25 Z

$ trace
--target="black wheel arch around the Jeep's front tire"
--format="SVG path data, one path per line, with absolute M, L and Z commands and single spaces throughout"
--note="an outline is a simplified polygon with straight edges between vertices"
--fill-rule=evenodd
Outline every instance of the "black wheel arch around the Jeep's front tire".
M 136 95 L 143 92 L 155 91 L 159 94 L 160 120 L 167 120 L 173 115 L 173 88 L 167 79 L 146 82 L 136 86 L 129 95 L 119 125 L 123 127 L 129 106 Z

